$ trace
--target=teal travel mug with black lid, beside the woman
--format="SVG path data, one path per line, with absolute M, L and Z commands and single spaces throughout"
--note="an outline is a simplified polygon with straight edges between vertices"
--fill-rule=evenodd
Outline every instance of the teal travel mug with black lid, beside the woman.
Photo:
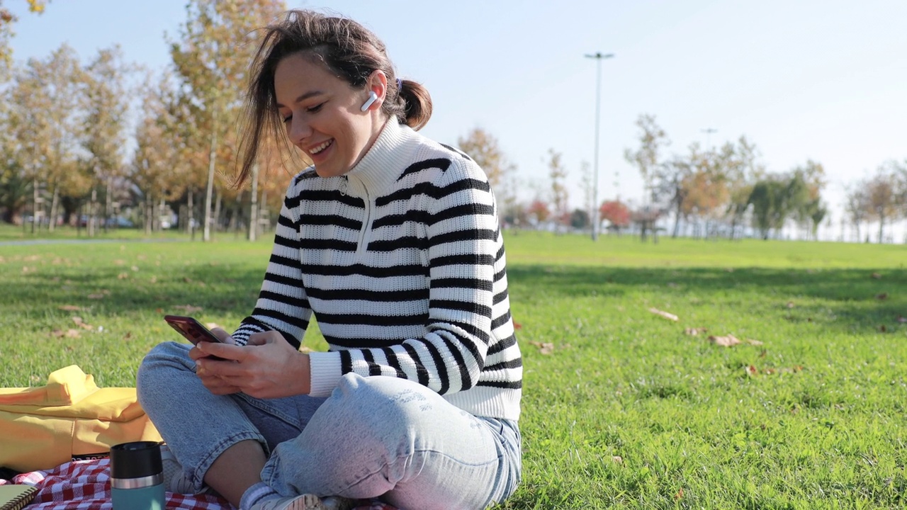
M 135 441 L 111 447 L 114 510 L 164 510 L 161 443 Z

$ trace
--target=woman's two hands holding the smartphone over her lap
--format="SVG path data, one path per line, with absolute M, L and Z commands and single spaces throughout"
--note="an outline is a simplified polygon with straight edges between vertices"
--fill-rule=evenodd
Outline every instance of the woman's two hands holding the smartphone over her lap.
M 308 393 L 308 356 L 289 345 L 277 331 L 254 333 L 246 346 L 235 345 L 223 329 L 215 328 L 211 332 L 224 343 L 199 342 L 190 349 L 196 374 L 211 393 L 242 392 L 257 398 Z

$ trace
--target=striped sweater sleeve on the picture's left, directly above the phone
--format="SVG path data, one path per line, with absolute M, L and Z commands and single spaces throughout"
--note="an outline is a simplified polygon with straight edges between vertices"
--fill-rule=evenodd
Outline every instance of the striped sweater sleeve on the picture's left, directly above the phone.
M 297 231 L 299 201 L 298 178 L 284 198 L 274 233 L 274 247 L 268 261 L 258 301 L 252 314 L 242 320 L 232 337 L 238 345 L 246 345 L 252 333 L 276 330 L 295 348 L 302 345 L 312 310 L 308 306 L 299 261 Z

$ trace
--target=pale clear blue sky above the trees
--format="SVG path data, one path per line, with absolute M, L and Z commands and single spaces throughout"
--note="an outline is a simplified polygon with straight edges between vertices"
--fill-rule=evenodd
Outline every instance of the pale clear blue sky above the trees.
M 17 60 L 44 58 L 67 42 L 87 61 L 121 44 L 128 60 L 163 69 L 164 34 L 176 35 L 185 20 L 184 0 L 54 0 L 40 16 L 24 12 L 24 0 L 5 5 L 20 14 Z M 846 185 L 907 159 L 902 0 L 288 5 L 329 9 L 373 29 L 398 72 L 432 93 L 424 133 L 455 143 L 473 127 L 491 132 L 526 195 L 547 190 L 544 158 L 554 149 L 571 173 L 571 201 L 582 203 L 580 162 L 593 160 L 596 93 L 595 62 L 583 55 L 597 51 L 615 54 L 601 65 L 601 199 L 641 195 L 638 173 L 623 160 L 640 113 L 656 115 L 672 141 L 668 152 L 746 135 L 770 171 L 823 163 L 834 211 Z

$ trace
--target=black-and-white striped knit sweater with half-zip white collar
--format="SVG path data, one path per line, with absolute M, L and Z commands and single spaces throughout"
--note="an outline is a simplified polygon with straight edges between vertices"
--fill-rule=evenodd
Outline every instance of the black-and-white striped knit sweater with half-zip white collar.
M 290 184 L 238 344 L 274 329 L 296 347 L 314 312 L 311 395 L 346 373 L 407 378 L 476 416 L 517 419 L 513 334 L 496 206 L 478 165 L 392 119 L 346 175 Z

